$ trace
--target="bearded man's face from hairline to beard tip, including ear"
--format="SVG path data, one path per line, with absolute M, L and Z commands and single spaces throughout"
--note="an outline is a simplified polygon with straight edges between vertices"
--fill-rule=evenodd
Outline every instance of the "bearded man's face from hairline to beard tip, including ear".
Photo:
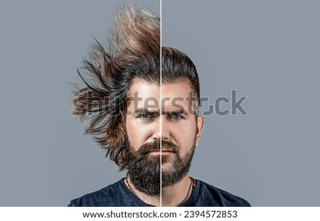
M 135 100 L 128 104 L 125 122 L 134 157 L 128 173 L 138 190 L 158 194 L 160 156 L 162 187 L 177 183 L 188 173 L 203 129 L 203 117 L 195 117 L 186 99 L 190 92 L 187 82 L 161 85 L 161 92 L 159 86 L 141 80 L 132 84 L 129 93 Z M 150 190 L 151 183 L 155 190 Z

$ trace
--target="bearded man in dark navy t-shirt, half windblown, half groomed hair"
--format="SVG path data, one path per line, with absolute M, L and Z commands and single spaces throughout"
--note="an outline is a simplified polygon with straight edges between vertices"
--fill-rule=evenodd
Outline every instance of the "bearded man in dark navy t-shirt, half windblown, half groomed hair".
M 127 177 L 69 206 L 250 206 L 188 176 L 204 124 L 190 58 L 160 51 L 160 19 L 145 9 L 129 6 L 115 21 L 109 50 L 97 43 L 84 61 L 73 113 Z

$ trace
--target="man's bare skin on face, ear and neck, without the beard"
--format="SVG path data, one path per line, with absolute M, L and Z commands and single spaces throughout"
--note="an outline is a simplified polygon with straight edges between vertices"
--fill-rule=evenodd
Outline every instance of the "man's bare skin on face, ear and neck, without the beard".
M 129 90 L 130 97 L 133 97 L 135 92 L 138 93 L 139 97 L 142 97 L 142 100 L 139 100 L 136 104 L 129 102 L 128 113 L 132 114 L 125 115 L 127 136 L 134 151 L 137 151 L 139 146 L 150 143 L 155 139 L 168 140 L 176 144 L 180 149 L 181 157 L 186 156 L 186 153 L 191 151 L 193 144 L 198 146 L 203 131 L 204 118 L 199 116 L 196 121 L 191 104 L 186 99 L 191 92 L 188 82 L 180 81 L 161 85 L 160 93 L 159 86 L 142 80 L 135 80 Z M 150 97 L 153 98 L 150 99 Z M 160 97 L 162 98 L 161 114 L 159 114 Z M 172 102 L 175 97 L 183 98 L 183 101 Z M 156 99 L 156 105 L 154 105 L 156 103 L 154 99 Z M 148 100 L 149 102 L 146 102 Z M 147 104 L 147 107 L 145 104 Z M 179 113 L 181 108 L 178 107 L 183 107 L 184 113 Z M 162 171 L 170 170 L 174 160 L 174 153 L 162 149 L 161 153 L 160 151 L 153 151 L 149 154 L 165 155 L 166 162 L 162 163 Z M 128 182 L 134 193 L 141 200 L 150 205 L 160 206 L 159 195 L 150 196 L 139 192 L 134 188 L 129 177 Z M 162 188 L 161 205 L 178 205 L 188 195 L 190 186 L 191 179 L 186 174 L 175 185 Z

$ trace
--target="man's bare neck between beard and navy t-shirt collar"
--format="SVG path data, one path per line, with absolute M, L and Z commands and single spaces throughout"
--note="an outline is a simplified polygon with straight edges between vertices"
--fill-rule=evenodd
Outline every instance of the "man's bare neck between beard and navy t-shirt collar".
M 160 196 L 159 195 L 146 195 L 145 193 L 137 190 L 131 183 L 129 176 L 127 176 L 126 185 L 129 189 L 144 203 L 148 203 L 154 206 L 160 206 Z M 188 200 L 192 195 L 193 190 L 192 179 L 186 175 L 175 185 L 171 185 L 162 188 L 161 192 L 161 206 L 177 206 L 183 201 Z M 184 202 L 183 202 L 184 203 Z

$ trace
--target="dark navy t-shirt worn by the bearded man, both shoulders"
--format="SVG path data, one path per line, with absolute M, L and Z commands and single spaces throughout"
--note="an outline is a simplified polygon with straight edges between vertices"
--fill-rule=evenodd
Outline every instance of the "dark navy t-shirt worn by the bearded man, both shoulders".
M 144 207 L 153 206 L 144 203 L 137 198 L 127 185 L 124 183 L 124 178 L 117 183 L 108 185 L 106 188 L 98 190 L 94 193 L 89 193 L 81 198 L 72 200 L 68 206 L 105 206 L 105 207 Z M 183 207 L 205 207 L 205 206 L 250 206 L 246 200 L 232 195 L 224 190 L 204 183 L 201 180 L 196 180 L 196 188 L 191 198 L 183 203 Z

